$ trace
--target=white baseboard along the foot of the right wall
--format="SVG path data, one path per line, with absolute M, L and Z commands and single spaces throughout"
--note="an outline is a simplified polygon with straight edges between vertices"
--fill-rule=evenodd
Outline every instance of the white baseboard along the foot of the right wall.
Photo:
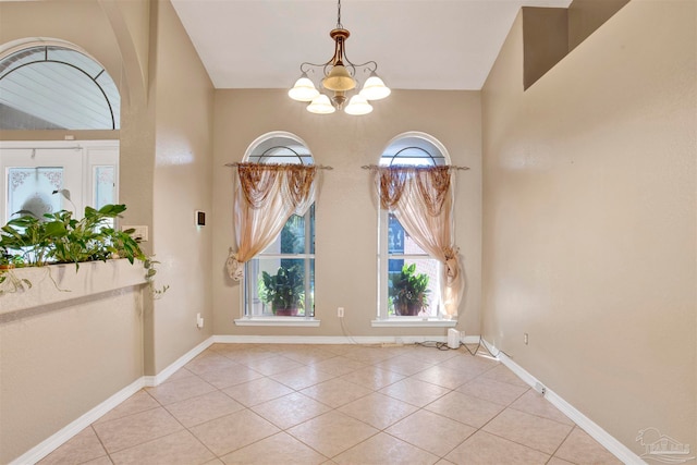
M 529 384 L 533 389 L 538 392 L 541 391 L 542 395 L 550 404 L 554 405 L 561 413 L 566 415 L 568 419 L 574 421 L 584 431 L 586 431 L 588 436 L 598 441 L 615 457 L 621 460 L 622 463 L 646 465 L 646 462 L 644 462 L 637 454 L 632 452 L 626 445 L 614 439 L 614 437 L 612 437 L 608 431 L 606 431 L 598 424 L 582 414 L 578 409 L 563 400 L 554 391 L 551 391 L 549 388 L 547 388 L 537 378 L 527 372 L 523 367 L 521 367 L 505 354 L 497 350 L 493 345 L 489 344 L 486 341 L 484 341 L 484 343 L 487 345 L 491 353 L 498 354 L 498 358 L 503 365 L 505 365 L 511 371 L 513 371 L 518 378 Z

